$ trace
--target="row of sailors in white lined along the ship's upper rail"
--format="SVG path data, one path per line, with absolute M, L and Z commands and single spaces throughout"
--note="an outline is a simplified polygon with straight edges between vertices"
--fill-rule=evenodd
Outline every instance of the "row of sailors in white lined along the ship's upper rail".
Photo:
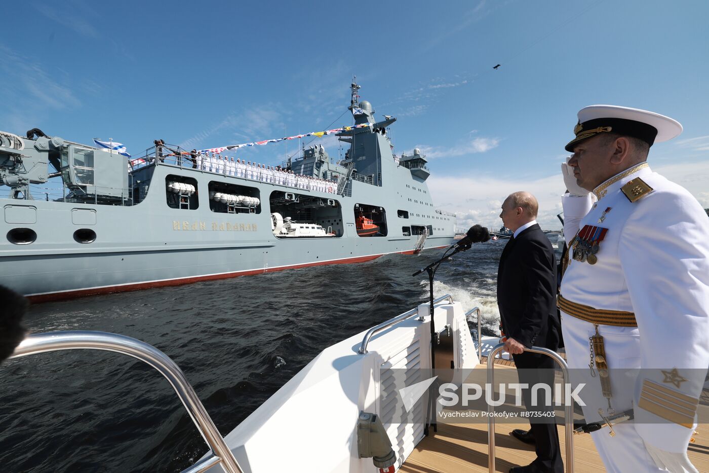
M 211 153 L 211 156 L 200 154 L 197 156 L 197 168 L 211 173 L 233 175 L 237 178 L 259 180 L 262 183 L 287 185 L 298 189 L 318 190 L 334 194 L 337 191 L 336 180 L 313 178 L 307 175 L 295 174 L 292 170 L 281 169 L 280 166 L 267 166 L 251 161 L 234 158 L 223 158 L 221 155 Z

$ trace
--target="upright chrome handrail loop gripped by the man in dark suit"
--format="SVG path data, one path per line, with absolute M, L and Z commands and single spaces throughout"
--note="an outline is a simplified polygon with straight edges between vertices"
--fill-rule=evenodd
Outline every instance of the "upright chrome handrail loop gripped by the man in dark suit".
M 501 343 L 496 345 L 492 351 L 488 354 L 487 360 L 487 382 L 490 389 L 493 388 L 493 377 L 495 368 L 495 357 L 502 351 L 505 344 Z M 559 367 L 562 369 L 562 374 L 564 375 L 564 386 L 569 384 L 569 366 L 566 365 L 566 361 L 559 356 L 557 352 L 550 350 L 548 348 L 542 347 L 532 347 L 525 348 L 525 352 L 530 353 L 540 353 L 547 355 L 547 357 L 552 357 Z M 495 472 L 495 406 L 492 403 L 488 403 L 488 467 L 490 473 Z M 573 403 L 568 403 L 564 406 L 564 427 L 566 430 L 566 472 L 574 472 L 574 406 Z

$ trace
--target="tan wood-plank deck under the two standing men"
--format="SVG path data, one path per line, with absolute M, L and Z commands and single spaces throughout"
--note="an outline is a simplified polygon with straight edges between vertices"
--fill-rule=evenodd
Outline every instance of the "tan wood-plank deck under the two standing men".
M 505 371 L 514 369 L 514 366 L 510 365 L 496 363 L 496 376 L 506 376 Z M 476 369 L 485 369 L 485 366 L 480 364 Z M 508 375 L 513 374 L 508 373 Z M 708 408 L 706 405 L 703 407 Z M 535 460 L 534 445 L 520 442 L 510 434 L 513 429 L 527 430 L 528 428 L 529 423 L 496 423 L 496 471 L 508 472 L 511 467 L 530 464 Z M 565 467 L 564 425 L 559 425 L 558 428 L 559 446 Z M 700 425 L 694 438 L 696 441 L 689 445 L 688 456 L 698 471 L 709 472 L 709 426 Z M 398 471 L 402 473 L 488 472 L 487 425 L 439 423 L 438 431 L 433 432 L 431 428 L 430 435 L 419 442 Z M 574 436 L 574 471 L 578 473 L 605 471 L 591 435 Z

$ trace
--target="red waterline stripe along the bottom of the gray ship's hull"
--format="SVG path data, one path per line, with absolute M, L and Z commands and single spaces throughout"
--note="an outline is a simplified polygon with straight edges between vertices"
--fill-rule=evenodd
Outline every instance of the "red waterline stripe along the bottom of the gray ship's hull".
M 447 245 L 432 246 L 432 247 L 426 248 L 426 249 L 439 249 L 439 248 L 447 248 Z M 398 253 L 401 253 L 401 254 L 414 254 L 414 252 L 415 252 L 415 250 L 398 251 Z M 390 254 L 390 253 L 386 253 L 386 254 Z M 248 271 L 235 271 L 233 273 L 211 274 L 208 276 L 191 276 L 189 278 L 177 278 L 177 279 L 169 279 L 169 280 L 165 280 L 165 281 L 147 281 L 145 283 L 122 284 L 120 286 L 106 286 L 104 288 L 67 290 L 67 291 L 60 292 L 60 293 L 28 295 L 27 298 L 32 303 L 45 303 L 45 302 L 52 302 L 55 300 L 66 300 L 66 299 L 80 298 L 80 297 L 84 297 L 86 295 L 123 293 L 123 292 L 128 292 L 130 290 L 161 288 L 164 286 L 182 286 L 183 284 L 197 283 L 199 281 L 215 281 L 217 279 L 237 278 L 238 276 L 250 276 L 252 274 L 275 273 L 276 271 L 284 271 L 285 269 L 306 268 L 308 266 L 325 266 L 327 264 L 364 263 L 364 261 L 372 261 L 373 259 L 377 259 L 377 258 L 379 258 L 379 256 L 384 256 L 384 253 L 369 255 L 369 256 L 357 256 L 356 258 L 336 259 L 333 261 L 313 261 L 312 263 L 294 264 L 291 266 L 279 266 L 277 268 L 251 269 Z

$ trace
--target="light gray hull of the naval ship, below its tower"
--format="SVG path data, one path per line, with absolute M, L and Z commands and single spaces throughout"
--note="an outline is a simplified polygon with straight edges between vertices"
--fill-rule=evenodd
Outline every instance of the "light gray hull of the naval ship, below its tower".
M 262 195 L 274 190 L 298 191 L 286 186 L 220 176 L 172 165 L 155 166 L 153 180 L 180 173 L 196 177 L 199 187 L 206 188 L 215 177 L 225 181 L 243 182 L 257 187 Z M 409 170 L 400 168 L 402 180 Z M 411 182 L 414 182 L 411 180 Z M 417 187 L 425 183 L 417 183 Z M 394 189 L 402 186 L 392 186 Z M 406 189 L 406 185 L 403 185 Z M 303 191 L 299 191 L 305 193 Z M 30 300 L 45 301 L 74 298 L 80 295 L 136 290 L 157 286 L 172 286 L 196 281 L 233 278 L 257 273 L 281 271 L 333 263 L 359 263 L 384 254 L 413 254 L 420 237 L 393 234 L 402 224 L 430 225 L 434 217 L 408 219 L 396 217 L 398 207 L 391 189 L 366 183 L 352 182 L 352 195 L 343 197 L 325 192 L 307 192 L 324 199 L 335 199 L 342 209 L 353 209 L 364 197 L 365 202 L 386 210 L 389 223 L 386 237 L 359 237 L 354 213 L 343 212 L 344 233 L 335 238 L 278 239 L 272 232 L 268 203 L 263 202 L 260 214 L 217 214 L 208 209 L 190 211 L 167 208 L 160 189 L 152 189 L 139 205 L 72 205 L 67 202 L 6 200 L 6 214 L 18 214 L 18 207 L 27 207 L 35 214 L 33 223 L 0 222 L 0 234 L 23 225 L 35 229 L 37 240 L 30 245 L 16 246 L 7 242 L 0 249 L 0 284 L 27 295 Z M 428 195 L 428 193 L 426 194 Z M 419 197 L 423 208 L 435 217 L 430 202 Z M 419 198 L 415 200 L 419 200 Z M 408 202 L 408 200 L 407 200 Z M 399 204 L 399 205 L 397 205 Z M 406 205 L 411 208 L 410 205 Z M 12 212 L 9 212 L 12 210 Z M 72 234 L 79 227 L 77 211 L 95 212 L 96 241 L 90 245 L 74 241 Z M 89 213 L 90 214 L 90 213 Z M 414 216 L 412 216 L 412 214 Z M 393 218 L 390 217 L 393 215 Z M 427 214 L 428 215 L 428 214 Z M 349 217 L 349 221 L 347 219 Z M 436 221 L 435 228 L 425 239 L 423 249 L 442 248 L 452 244 L 454 219 Z M 227 227 L 229 224 L 229 227 Z M 397 225 L 398 224 L 398 225 Z M 243 227 L 242 227 L 243 226 Z M 216 229 L 215 229 L 216 228 Z M 229 229 L 228 229 L 229 228 Z

